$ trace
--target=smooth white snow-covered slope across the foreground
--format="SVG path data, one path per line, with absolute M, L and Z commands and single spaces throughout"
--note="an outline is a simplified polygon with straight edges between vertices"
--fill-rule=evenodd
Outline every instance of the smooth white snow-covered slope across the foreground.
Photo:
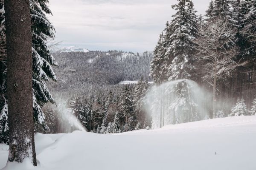
M 36 170 L 256 170 L 256 116 L 119 134 L 35 135 Z M 0 168 L 8 147 L 0 145 Z M 7 170 L 28 170 L 27 162 Z

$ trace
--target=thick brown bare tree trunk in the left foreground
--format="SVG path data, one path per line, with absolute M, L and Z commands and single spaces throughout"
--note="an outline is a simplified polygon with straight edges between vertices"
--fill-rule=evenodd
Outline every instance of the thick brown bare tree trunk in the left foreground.
M 10 162 L 28 158 L 36 166 L 32 38 L 29 0 L 4 0 L 7 45 L 7 96 Z

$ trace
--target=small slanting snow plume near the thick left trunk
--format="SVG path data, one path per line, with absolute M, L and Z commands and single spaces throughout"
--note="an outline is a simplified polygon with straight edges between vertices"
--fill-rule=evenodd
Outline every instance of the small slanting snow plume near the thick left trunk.
M 79 119 L 72 113 L 72 110 L 67 108 L 67 102 L 58 100 L 57 103 L 59 126 L 62 133 L 71 133 L 74 130 L 87 131 Z

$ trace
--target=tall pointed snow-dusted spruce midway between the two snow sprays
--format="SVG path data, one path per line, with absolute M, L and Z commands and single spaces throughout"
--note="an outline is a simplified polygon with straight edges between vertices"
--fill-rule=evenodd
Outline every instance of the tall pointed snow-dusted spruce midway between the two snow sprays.
M 125 124 L 128 125 L 129 117 L 132 116 L 133 109 L 133 97 L 128 85 L 125 85 L 121 94 L 121 113 L 125 117 Z M 127 131 L 127 129 L 126 129 Z

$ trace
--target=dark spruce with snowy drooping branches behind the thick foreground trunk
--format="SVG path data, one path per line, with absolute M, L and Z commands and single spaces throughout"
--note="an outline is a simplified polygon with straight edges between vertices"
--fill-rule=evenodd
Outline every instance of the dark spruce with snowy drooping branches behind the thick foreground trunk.
M 55 100 L 52 98 L 52 95 L 47 88 L 46 82 L 49 79 L 57 81 L 55 73 L 52 70 L 51 65 L 57 65 L 54 57 L 51 55 L 50 50 L 47 45 L 49 39 L 54 38 L 54 27 L 47 19 L 46 14 L 52 14 L 50 9 L 47 6 L 48 0 L 30 0 L 30 14 L 31 14 L 31 28 L 32 28 L 32 59 L 33 59 L 33 74 L 32 74 L 32 85 L 33 85 L 33 111 L 34 111 L 34 120 L 36 124 L 42 125 L 45 130 L 49 130 L 49 127 L 45 123 L 45 115 L 42 111 L 42 106 L 51 102 L 55 104 Z M 3 7 L 3 0 L 0 1 L 1 7 Z M 4 26 L 4 9 L 0 10 L 1 13 L 1 40 L 5 40 L 5 26 Z M 1 75 L 4 75 L 6 68 L 2 69 Z M 5 77 L 1 76 L 1 88 L 3 89 L 3 82 L 5 82 Z M 2 90 L 1 89 L 1 90 Z M 3 111 L 3 108 L 7 108 L 8 96 L 6 96 L 5 91 L 1 91 L 5 96 L 5 102 L 0 102 L 0 108 Z M 7 117 L 8 112 L 1 117 L 5 117 L 5 130 L 8 131 Z M 1 121 L 1 120 L 0 120 Z M 0 133 L 0 136 L 3 134 Z M 1 139 L 0 139 L 1 140 Z

